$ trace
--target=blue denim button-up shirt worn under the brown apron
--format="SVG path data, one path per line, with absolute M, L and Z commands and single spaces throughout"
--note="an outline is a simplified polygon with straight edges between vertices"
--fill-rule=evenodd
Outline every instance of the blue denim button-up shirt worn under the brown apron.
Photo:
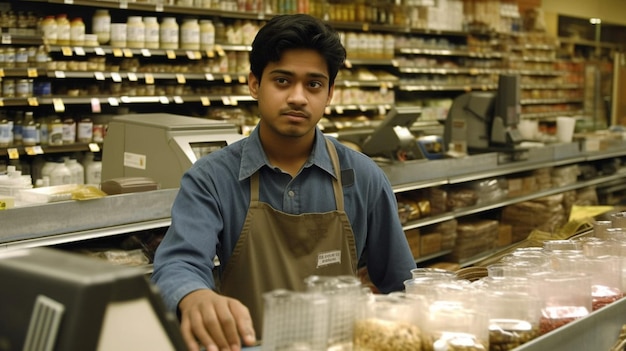
M 331 181 L 335 172 L 324 137 L 316 131 L 313 151 L 294 178 L 269 163 L 257 129 L 199 159 L 183 175 L 172 224 L 157 249 L 152 274 L 168 308 L 176 311 L 180 299 L 194 290 L 215 288 L 213 259 L 219 258 L 218 273 L 228 264 L 250 204 L 250 176 L 256 171 L 260 201 L 277 210 L 291 214 L 336 210 Z M 402 290 L 416 264 L 391 185 L 369 157 L 331 140 L 340 160 L 357 256 L 367 257 L 370 279 L 381 292 Z

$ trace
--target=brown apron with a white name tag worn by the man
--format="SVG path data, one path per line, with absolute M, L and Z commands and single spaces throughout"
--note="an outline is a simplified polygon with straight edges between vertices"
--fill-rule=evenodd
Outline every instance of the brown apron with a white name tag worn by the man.
M 343 207 L 341 169 L 335 146 L 326 139 L 337 179 L 337 210 L 293 215 L 259 202 L 259 172 L 250 179 L 250 208 L 221 279 L 221 293 L 250 310 L 257 338 L 262 337 L 263 293 L 303 291 L 311 275 L 355 275 L 356 245 Z

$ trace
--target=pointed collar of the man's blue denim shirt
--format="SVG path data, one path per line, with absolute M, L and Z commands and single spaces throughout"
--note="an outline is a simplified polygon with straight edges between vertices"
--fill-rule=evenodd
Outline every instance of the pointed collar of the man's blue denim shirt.
M 326 149 L 326 138 L 319 128 L 315 128 L 315 141 L 313 143 L 313 152 L 305 163 L 304 167 L 317 166 L 328 174 L 336 178 L 333 164 Z M 246 138 L 241 150 L 241 165 L 239 167 L 239 180 L 249 178 L 261 167 L 267 166 L 272 168 L 270 162 L 261 146 L 261 138 L 259 137 L 258 126 L 254 128 L 252 133 Z

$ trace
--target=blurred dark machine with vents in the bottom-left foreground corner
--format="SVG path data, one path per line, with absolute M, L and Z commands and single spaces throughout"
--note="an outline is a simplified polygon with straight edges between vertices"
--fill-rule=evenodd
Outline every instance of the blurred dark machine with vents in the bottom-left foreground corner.
M 0 351 L 185 350 L 146 272 L 53 248 L 0 253 Z

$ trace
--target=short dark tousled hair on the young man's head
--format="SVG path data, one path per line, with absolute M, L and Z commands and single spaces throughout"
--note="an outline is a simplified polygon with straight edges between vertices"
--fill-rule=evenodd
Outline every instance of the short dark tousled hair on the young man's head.
M 313 49 L 328 66 L 330 85 L 346 59 L 346 49 L 337 32 L 311 15 L 279 15 L 269 20 L 257 33 L 250 52 L 250 70 L 260 81 L 269 62 L 280 61 L 283 51 Z

